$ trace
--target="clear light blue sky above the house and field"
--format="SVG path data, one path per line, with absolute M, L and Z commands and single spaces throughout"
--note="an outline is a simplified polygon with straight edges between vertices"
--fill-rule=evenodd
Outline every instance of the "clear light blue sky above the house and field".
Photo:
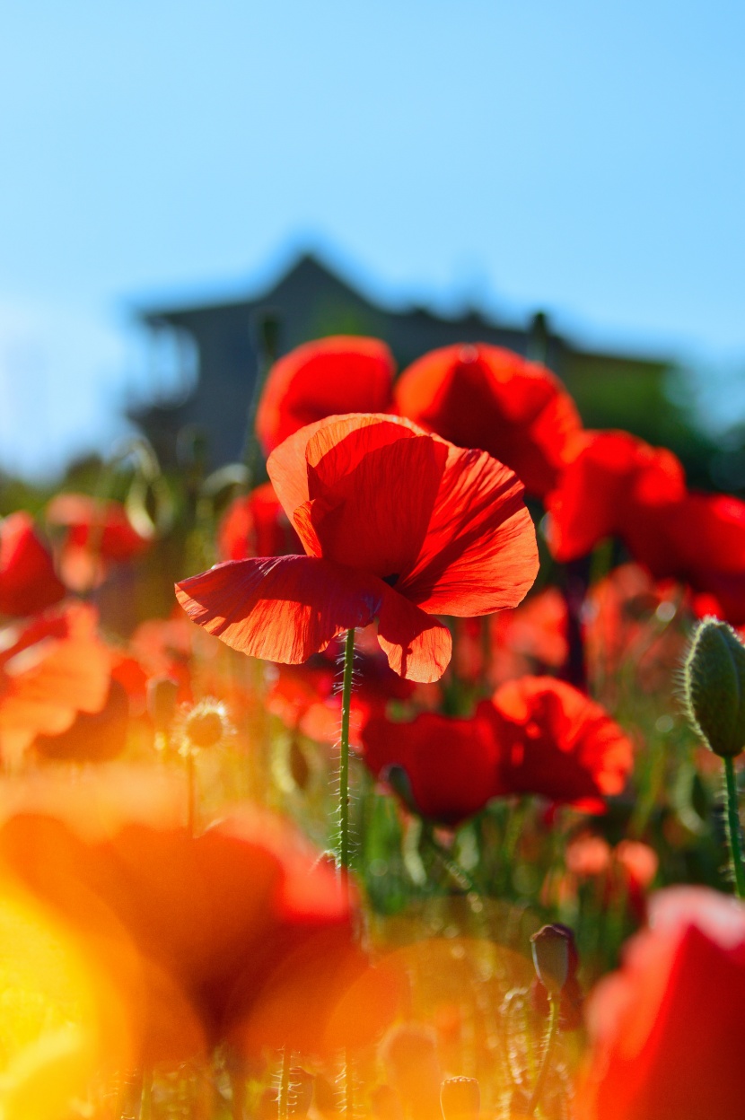
M 671 353 L 745 416 L 743 41 L 741 0 L 8 0 L 0 464 L 111 444 L 132 307 L 307 245 Z

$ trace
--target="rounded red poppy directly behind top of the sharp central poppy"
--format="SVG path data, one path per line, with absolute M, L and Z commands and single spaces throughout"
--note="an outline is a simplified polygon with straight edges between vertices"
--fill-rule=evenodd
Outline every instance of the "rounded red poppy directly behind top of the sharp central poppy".
M 391 352 L 376 338 L 337 335 L 298 346 L 272 366 L 259 401 L 264 454 L 325 417 L 383 412 L 394 372 Z

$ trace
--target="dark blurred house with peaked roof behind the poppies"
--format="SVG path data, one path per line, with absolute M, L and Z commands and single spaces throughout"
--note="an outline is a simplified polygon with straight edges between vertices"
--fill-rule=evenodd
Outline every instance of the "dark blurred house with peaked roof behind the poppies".
M 668 363 L 583 349 L 555 334 L 541 312 L 518 325 L 476 310 L 453 318 L 420 307 L 391 310 L 317 258 L 304 255 L 267 291 L 141 312 L 153 361 L 166 347 L 181 363 L 176 388 L 165 399 L 129 411 L 161 461 L 174 461 L 177 435 L 188 428 L 206 436 L 211 466 L 240 458 L 260 364 L 257 324 L 268 312 L 280 324 L 280 353 L 325 335 L 374 335 L 389 344 L 403 370 L 427 351 L 451 343 L 505 346 L 549 365 L 574 395 L 587 427 L 626 428 L 654 444 L 676 442 L 661 428 L 669 427 L 674 413 L 665 396 Z

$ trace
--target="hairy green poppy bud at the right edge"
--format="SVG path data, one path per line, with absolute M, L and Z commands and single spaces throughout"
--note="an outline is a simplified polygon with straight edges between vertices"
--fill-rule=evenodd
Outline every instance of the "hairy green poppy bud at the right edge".
M 688 719 L 715 755 L 745 747 L 745 646 L 718 618 L 705 618 L 683 665 Z

